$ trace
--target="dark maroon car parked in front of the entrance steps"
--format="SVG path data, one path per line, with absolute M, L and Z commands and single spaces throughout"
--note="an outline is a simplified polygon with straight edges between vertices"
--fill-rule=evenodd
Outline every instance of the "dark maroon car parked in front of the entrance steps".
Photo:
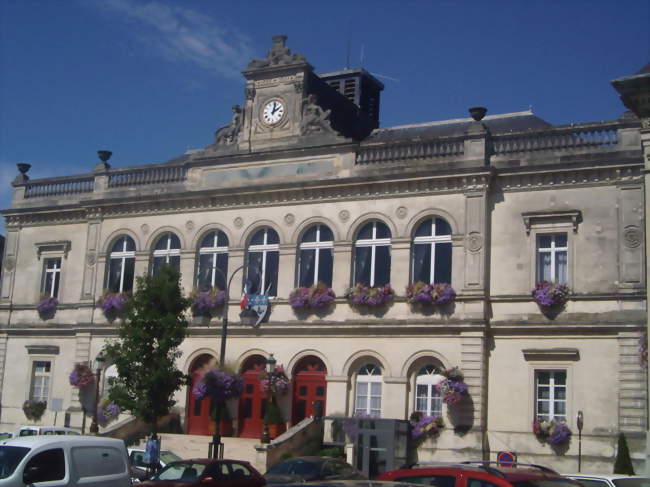
M 248 462 L 197 458 L 171 462 L 139 487 L 262 487 L 264 477 Z

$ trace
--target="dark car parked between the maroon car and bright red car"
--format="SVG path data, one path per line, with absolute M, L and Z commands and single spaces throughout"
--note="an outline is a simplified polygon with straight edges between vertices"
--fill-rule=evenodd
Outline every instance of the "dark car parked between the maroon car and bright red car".
M 290 458 L 269 468 L 264 478 L 269 485 L 313 480 L 366 480 L 346 461 L 330 457 Z

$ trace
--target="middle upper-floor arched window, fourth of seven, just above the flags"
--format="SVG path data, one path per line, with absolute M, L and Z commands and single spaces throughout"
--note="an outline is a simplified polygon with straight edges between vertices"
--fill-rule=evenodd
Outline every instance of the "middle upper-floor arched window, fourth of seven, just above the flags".
M 264 227 L 255 232 L 248 245 L 248 268 L 244 291 L 249 294 L 276 296 L 279 259 L 280 239 L 276 231 Z

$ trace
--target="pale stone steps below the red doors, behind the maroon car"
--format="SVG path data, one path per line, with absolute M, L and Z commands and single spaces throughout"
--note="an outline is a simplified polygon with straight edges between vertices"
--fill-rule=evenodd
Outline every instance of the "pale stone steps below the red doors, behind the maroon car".
M 212 441 L 211 436 L 203 435 L 175 435 L 161 433 L 160 447 L 163 450 L 171 450 L 181 458 L 206 458 L 208 456 L 208 444 Z M 260 440 L 251 438 L 230 438 L 223 437 L 224 458 L 233 460 L 246 460 L 250 462 L 261 473 L 266 471 L 266 465 L 256 465 L 255 446 Z

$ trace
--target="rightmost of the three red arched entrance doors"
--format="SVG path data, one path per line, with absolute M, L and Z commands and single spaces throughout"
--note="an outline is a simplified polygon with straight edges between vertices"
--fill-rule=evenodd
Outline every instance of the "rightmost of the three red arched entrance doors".
M 321 414 L 325 414 L 327 369 L 318 357 L 305 357 L 294 368 L 293 407 L 291 423 L 296 424 L 314 415 L 314 404 L 322 404 Z

